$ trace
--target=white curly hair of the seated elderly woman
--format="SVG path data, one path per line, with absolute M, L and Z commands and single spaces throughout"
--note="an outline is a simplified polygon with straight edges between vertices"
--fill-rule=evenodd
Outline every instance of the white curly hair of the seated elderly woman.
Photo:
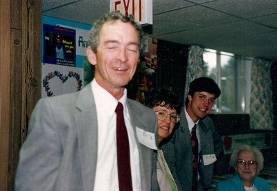
M 242 152 L 244 150 L 253 152 L 253 154 L 255 155 L 255 161 L 257 162 L 258 168 L 260 170 L 262 170 L 262 168 L 264 167 L 264 156 L 262 156 L 262 152 L 260 152 L 260 149 L 258 149 L 257 147 L 254 147 L 252 145 L 239 145 L 238 147 L 236 147 L 233 150 L 233 153 L 232 153 L 231 159 L 230 159 L 231 167 L 237 166 L 238 156 L 239 156 L 240 152 Z

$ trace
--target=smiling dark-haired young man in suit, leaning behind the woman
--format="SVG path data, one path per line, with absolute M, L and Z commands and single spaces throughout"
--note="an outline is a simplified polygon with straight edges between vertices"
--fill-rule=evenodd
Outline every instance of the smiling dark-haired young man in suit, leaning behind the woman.
M 179 127 L 171 140 L 163 145 L 166 161 L 179 190 L 193 190 L 193 149 L 190 133 L 196 124 L 198 147 L 197 190 L 208 190 L 213 176 L 213 163 L 223 149 L 222 139 L 213 121 L 206 116 L 220 96 L 211 78 L 197 78 L 190 83 L 186 107 L 181 109 Z

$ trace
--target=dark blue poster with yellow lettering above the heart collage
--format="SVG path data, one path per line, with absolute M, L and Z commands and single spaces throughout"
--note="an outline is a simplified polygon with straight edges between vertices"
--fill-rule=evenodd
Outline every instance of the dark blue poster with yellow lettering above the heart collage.
M 75 66 L 75 30 L 60 26 L 43 25 L 43 62 Z

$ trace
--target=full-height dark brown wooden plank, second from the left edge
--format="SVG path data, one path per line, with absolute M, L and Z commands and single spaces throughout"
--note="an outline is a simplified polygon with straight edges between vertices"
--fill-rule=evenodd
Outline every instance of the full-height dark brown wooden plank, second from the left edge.
M 22 1 L 10 1 L 10 150 L 8 190 L 14 190 L 21 147 Z

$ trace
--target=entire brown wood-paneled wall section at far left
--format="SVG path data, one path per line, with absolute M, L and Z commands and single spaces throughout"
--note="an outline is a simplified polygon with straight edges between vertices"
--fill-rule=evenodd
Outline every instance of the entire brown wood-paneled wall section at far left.
M 0 190 L 15 189 L 19 149 L 41 98 L 41 20 L 41 0 L 0 0 Z

